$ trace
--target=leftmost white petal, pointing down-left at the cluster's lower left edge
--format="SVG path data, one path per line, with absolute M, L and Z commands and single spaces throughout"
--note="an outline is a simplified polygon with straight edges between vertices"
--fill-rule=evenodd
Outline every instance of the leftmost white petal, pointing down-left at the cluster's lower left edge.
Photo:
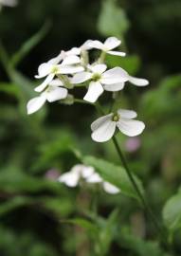
M 38 111 L 45 103 L 46 98 L 45 95 L 41 95 L 39 97 L 33 98 L 27 102 L 27 114 L 33 114 Z

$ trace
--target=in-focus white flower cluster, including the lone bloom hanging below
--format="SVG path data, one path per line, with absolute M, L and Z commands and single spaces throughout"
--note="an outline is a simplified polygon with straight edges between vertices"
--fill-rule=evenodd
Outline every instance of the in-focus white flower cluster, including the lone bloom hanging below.
M 126 82 L 136 86 L 148 85 L 147 80 L 132 77 L 119 66 L 107 68 L 104 63 L 106 54 L 125 56 L 124 52 L 114 50 L 120 43 L 116 37 L 109 37 L 104 43 L 87 40 L 82 46 L 61 51 L 57 57 L 41 64 L 35 78 L 44 81 L 35 87 L 39 96 L 27 102 L 27 114 L 38 111 L 45 101 L 65 102 L 70 96 L 69 91 L 76 86 L 86 87 L 87 92 L 83 100 L 95 104 L 104 91 L 118 92 L 124 88 Z M 92 49 L 100 50 L 100 57 L 90 64 L 89 52 Z M 74 101 L 72 95 L 71 97 Z M 107 141 L 113 137 L 117 127 L 123 134 L 135 137 L 145 127 L 143 122 L 135 118 L 136 112 L 132 110 L 118 109 L 109 113 L 92 123 L 92 138 L 98 142 Z

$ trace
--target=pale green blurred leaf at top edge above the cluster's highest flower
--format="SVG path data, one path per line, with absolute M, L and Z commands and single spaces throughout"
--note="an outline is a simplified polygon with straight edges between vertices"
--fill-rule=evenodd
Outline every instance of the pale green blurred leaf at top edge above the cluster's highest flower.
M 98 29 L 104 36 L 123 37 L 130 24 L 123 9 L 116 0 L 105 0 L 102 2 Z

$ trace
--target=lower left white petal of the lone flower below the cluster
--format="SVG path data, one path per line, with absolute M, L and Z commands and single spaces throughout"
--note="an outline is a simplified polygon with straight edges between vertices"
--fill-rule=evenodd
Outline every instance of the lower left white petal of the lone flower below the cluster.
M 91 137 L 97 142 L 104 142 L 113 137 L 116 130 L 116 122 L 112 120 L 106 120 L 102 122 L 98 129 L 96 129 Z

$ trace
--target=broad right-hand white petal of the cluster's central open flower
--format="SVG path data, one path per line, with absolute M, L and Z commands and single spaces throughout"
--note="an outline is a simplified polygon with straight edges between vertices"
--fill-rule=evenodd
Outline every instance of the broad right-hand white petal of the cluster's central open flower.
M 121 67 L 114 67 L 102 74 L 101 82 L 104 84 L 113 84 L 128 81 L 128 73 Z

